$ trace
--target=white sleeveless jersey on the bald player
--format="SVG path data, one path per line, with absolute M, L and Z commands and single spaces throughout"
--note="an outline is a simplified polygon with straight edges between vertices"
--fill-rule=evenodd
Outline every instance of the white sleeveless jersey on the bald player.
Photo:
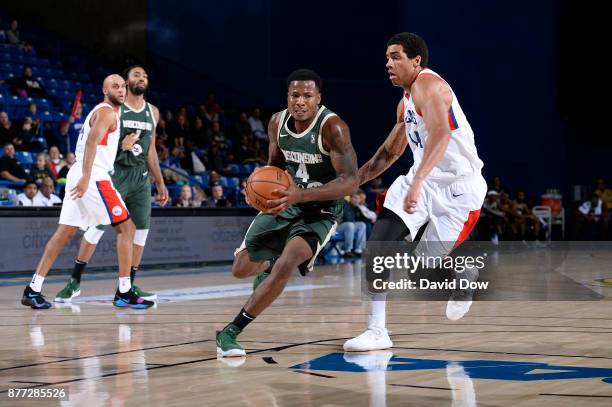
M 81 127 L 81 132 L 79 134 L 79 139 L 77 141 L 75 156 L 76 162 L 79 164 L 83 164 L 83 158 L 85 153 L 85 144 L 87 143 L 87 138 L 89 137 L 89 133 L 91 132 L 91 125 L 89 124 L 91 117 L 93 114 L 99 109 L 112 109 L 113 107 L 106 102 L 98 104 L 94 107 L 91 112 L 85 118 L 85 123 L 83 123 L 83 127 Z M 115 163 L 115 157 L 117 155 L 117 147 L 119 145 L 119 134 L 121 133 L 121 123 L 119 122 L 119 115 L 115 112 L 115 116 L 117 117 L 117 123 L 115 124 L 115 129 L 113 131 L 108 131 L 100 143 L 98 143 L 96 147 L 96 157 L 94 158 L 93 168 L 103 170 L 104 172 L 109 172 L 113 170 L 113 165 Z

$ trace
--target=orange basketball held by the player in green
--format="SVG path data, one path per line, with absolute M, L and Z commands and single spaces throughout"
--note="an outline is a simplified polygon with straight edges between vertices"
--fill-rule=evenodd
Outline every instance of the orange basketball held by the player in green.
M 244 189 L 249 204 L 260 211 L 267 209 L 268 200 L 279 199 L 276 189 L 289 188 L 289 177 L 278 167 L 266 165 L 253 171 Z

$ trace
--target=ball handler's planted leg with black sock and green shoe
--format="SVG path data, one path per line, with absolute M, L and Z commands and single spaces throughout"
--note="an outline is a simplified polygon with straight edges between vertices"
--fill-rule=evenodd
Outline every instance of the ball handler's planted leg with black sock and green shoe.
M 310 239 L 316 240 L 316 239 Z M 316 243 L 315 243 L 316 247 Z M 315 254 L 312 242 L 301 236 L 290 239 L 281 256 L 276 260 L 272 271 L 253 292 L 234 321 L 217 332 L 217 353 L 220 356 L 244 356 L 244 348 L 236 342 L 236 337 L 263 312 L 283 292 L 291 274 L 298 266 Z

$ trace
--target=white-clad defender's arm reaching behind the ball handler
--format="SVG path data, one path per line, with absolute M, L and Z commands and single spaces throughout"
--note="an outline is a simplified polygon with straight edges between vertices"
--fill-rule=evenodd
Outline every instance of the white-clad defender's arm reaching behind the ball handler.
M 398 158 L 404 154 L 408 140 L 405 134 L 405 123 L 403 118 L 403 100 L 397 105 L 397 121 L 384 143 L 378 148 L 376 153 L 359 168 L 359 185 L 380 176 Z

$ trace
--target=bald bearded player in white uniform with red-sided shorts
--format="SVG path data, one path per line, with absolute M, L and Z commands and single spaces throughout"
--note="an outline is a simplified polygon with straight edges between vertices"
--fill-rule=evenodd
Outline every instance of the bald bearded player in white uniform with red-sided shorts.
M 76 162 L 66 177 L 66 196 L 59 226 L 45 245 L 32 282 L 25 288 L 21 303 L 34 309 L 47 309 L 51 303 L 41 294 L 42 283 L 62 249 L 80 229 L 112 225 L 117 230 L 119 288 L 115 305 L 148 308 L 154 303 L 136 296 L 130 285 L 134 224 L 115 190 L 109 171 L 113 169 L 119 143 L 118 110 L 125 100 L 125 80 L 119 75 L 104 79 L 104 102 L 87 115 L 76 147 Z

